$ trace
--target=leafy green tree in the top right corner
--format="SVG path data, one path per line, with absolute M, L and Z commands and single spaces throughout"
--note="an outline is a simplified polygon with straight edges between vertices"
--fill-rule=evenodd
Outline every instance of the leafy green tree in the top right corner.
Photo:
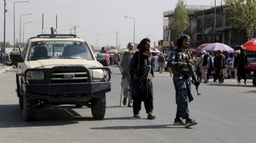
M 246 2 L 245 2 L 246 1 Z M 229 14 L 230 28 L 238 31 L 245 30 L 246 36 L 251 39 L 250 32 L 254 32 L 256 23 L 256 0 L 224 0 Z

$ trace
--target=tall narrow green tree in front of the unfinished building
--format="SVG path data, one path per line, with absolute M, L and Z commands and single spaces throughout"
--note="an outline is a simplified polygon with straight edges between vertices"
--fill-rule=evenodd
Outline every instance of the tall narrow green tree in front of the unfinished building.
M 188 11 L 186 9 L 186 4 L 183 0 L 178 0 L 176 3 L 176 8 L 174 9 L 173 21 L 170 25 L 171 29 L 171 39 L 176 45 L 177 39 L 180 38 L 181 34 L 184 34 L 184 31 L 189 25 Z

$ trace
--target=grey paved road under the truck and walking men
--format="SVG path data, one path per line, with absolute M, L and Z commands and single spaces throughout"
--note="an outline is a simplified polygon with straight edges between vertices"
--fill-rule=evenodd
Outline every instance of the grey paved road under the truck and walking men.
M 103 120 L 93 120 L 90 108 L 74 105 L 51 106 L 37 110 L 37 120 L 23 120 L 15 93 L 15 70 L 0 74 L 0 142 L 10 143 L 255 143 L 256 87 L 237 85 L 236 80 L 192 86 L 195 100 L 189 104 L 191 128 L 173 125 L 176 104 L 172 78 L 167 71 L 155 73 L 155 120 L 132 117 L 132 108 L 120 104 L 121 74 L 110 67 L 112 90 L 106 94 L 107 109 Z M 243 83 L 243 82 L 242 82 Z M 142 105 L 143 107 L 143 105 Z

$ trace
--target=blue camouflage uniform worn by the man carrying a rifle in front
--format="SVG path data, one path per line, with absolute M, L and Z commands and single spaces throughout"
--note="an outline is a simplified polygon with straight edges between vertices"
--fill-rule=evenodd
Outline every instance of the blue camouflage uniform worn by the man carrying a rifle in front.
M 188 77 L 188 69 L 184 68 L 185 63 L 187 63 L 184 56 L 188 57 L 193 70 L 195 70 L 194 62 L 190 55 L 188 56 L 187 49 L 184 51 L 180 48 L 172 50 L 167 66 L 171 67 L 173 70 L 173 83 L 176 90 L 177 104 L 176 116 L 182 119 L 189 119 L 188 103 L 193 100 L 193 96 L 191 93 L 191 80 L 190 77 Z

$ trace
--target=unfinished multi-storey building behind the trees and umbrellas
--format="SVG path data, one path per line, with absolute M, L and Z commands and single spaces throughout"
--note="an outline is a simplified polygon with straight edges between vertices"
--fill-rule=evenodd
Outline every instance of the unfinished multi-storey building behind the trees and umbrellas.
M 189 44 L 191 48 L 196 48 L 204 43 L 216 42 L 234 47 L 236 45 L 241 45 L 248 40 L 245 31 L 230 29 L 230 22 L 226 19 L 232 15 L 229 15 L 227 11 L 224 10 L 227 9 L 225 5 L 217 6 L 216 14 L 214 12 L 214 6 L 187 5 L 186 8 L 189 13 L 189 26 L 187 28 L 190 31 L 188 35 L 191 37 Z M 174 10 L 163 13 L 162 51 L 164 53 L 167 53 L 167 51 L 174 48 L 172 41 L 176 40 L 170 39 L 170 25 L 172 24 L 173 14 Z

